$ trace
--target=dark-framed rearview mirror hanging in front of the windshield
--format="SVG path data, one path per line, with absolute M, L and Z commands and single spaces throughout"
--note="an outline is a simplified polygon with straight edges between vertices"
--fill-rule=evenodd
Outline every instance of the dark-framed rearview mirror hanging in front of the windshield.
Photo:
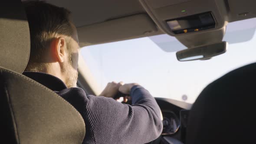
M 228 43 L 214 43 L 211 45 L 197 46 L 194 48 L 184 49 L 176 53 L 178 61 L 206 60 L 213 56 L 218 56 L 227 51 Z

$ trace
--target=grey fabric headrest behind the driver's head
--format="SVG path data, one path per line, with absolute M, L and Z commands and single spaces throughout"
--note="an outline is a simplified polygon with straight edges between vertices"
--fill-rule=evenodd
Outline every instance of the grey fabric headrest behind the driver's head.
M 0 4 L 0 66 L 22 73 L 29 56 L 30 30 L 23 5 L 20 0 L 3 0 Z

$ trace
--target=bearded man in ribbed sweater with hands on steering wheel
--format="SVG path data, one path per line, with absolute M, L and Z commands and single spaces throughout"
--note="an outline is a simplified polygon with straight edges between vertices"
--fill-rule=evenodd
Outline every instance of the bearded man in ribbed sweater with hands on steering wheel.
M 82 115 L 84 144 L 143 144 L 162 131 L 161 111 L 138 84 L 108 83 L 102 96 L 86 95 L 76 87 L 79 40 L 70 12 L 40 1 L 24 2 L 30 25 L 30 60 L 23 74 L 52 89 Z M 131 95 L 132 105 L 113 97 Z

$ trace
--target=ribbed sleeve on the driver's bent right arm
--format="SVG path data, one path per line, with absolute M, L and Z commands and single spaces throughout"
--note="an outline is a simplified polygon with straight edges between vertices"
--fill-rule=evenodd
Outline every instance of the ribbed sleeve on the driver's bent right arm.
M 143 87 L 131 88 L 132 105 L 88 95 L 87 116 L 96 144 L 144 144 L 161 134 L 160 108 Z

